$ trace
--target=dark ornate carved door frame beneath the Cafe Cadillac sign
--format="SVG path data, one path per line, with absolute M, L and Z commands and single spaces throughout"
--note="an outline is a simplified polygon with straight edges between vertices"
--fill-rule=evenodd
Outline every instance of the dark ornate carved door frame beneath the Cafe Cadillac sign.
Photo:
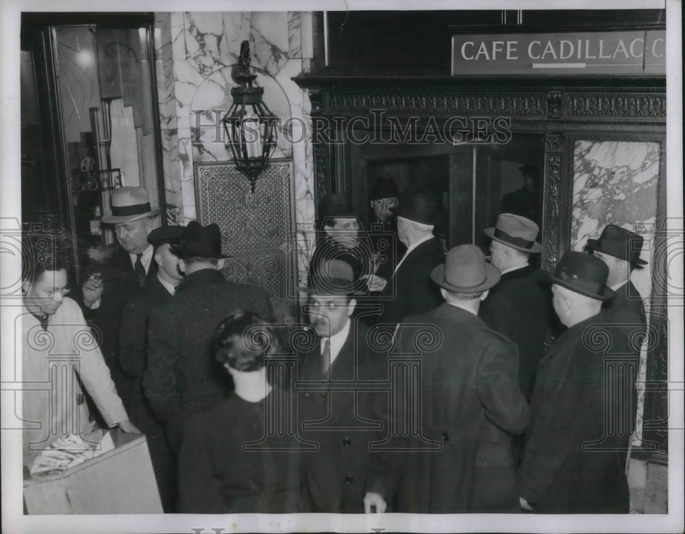
M 571 238 L 571 202 L 573 199 L 573 141 L 580 138 L 613 140 L 651 140 L 662 144 L 664 167 L 666 131 L 665 80 L 570 80 L 567 86 L 545 80 L 537 84 L 527 80 L 516 88 L 502 88 L 502 82 L 473 84 L 465 88 L 446 79 L 435 84 L 399 87 L 387 80 L 362 82 L 316 80 L 300 77 L 298 84 L 310 88 L 314 126 L 315 196 L 351 189 L 349 140 L 344 121 L 353 117 L 372 117 L 371 110 L 385 110 L 388 115 L 433 114 L 445 120 L 451 115 L 464 117 L 507 116 L 515 133 L 544 136 L 543 253 L 541 266 L 553 270 L 560 256 L 569 249 Z M 377 82 L 377 83 L 376 83 Z M 354 84 L 358 84 L 355 86 Z M 556 83 L 557 86 L 549 86 Z M 453 84 L 453 87 L 449 87 Z M 547 84 L 547 88 L 545 87 Z M 334 86 L 336 86 L 334 88 Z M 513 87 L 513 88 L 512 88 Z M 327 143 L 334 139 L 335 143 Z M 319 141 L 318 143 L 316 141 Z M 664 228 L 665 175 L 660 171 L 656 228 Z M 665 245 L 667 236 L 658 234 L 655 247 Z M 653 310 L 651 331 L 658 332 L 659 343 L 649 347 L 647 380 L 653 386 L 647 397 L 645 439 L 656 442 L 665 451 L 668 415 L 667 399 L 667 321 L 665 315 L 665 254 L 655 255 L 650 304 Z M 653 456 L 653 454 L 652 454 Z M 658 459 L 659 454 L 656 454 Z

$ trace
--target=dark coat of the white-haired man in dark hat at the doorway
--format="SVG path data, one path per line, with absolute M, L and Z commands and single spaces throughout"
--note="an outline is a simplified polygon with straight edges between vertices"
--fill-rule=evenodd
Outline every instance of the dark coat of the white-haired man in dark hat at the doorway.
M 412 250 L 382 291 L 384 312 L 381 323 L 398 324 L 408 315 L 426 313 L 443 302 L 440 288 L 431 280 L 431 271 L 445 261 L 434 237 Z

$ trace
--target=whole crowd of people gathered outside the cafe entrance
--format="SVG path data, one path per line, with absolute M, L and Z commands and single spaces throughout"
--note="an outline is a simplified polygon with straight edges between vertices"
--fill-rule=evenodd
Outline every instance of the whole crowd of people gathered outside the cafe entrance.
M 28 234 L 23 379 L 49 382 L 51 354 L 77 379 L 23 392 L 45 422 L 24 430 L 26 468 L 62 435 L 120 426 L 145 434 L 166 512 L 627 513 L 641 236 L 606 226 L 540 271 L 523 215 L 484 229 L 490 256 L 445 251 L 431 191 L 372 191 L 369 232 L 345 195 L 321 199 L 295 332 L 264 289 L 226 280 L 216 224 L 155 228 L 145 189 L 112 192 L 117 243 L 71 298 L 66 254 Z M 407 355 L 410 420 L 390 366 Z

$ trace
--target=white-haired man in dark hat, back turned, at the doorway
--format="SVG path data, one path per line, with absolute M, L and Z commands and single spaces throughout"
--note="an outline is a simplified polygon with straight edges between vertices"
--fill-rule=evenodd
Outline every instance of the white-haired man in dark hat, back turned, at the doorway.
M 399 240 L 407 250 L 390 280 L 382 281 L 379 300 L 384 306 L 384 324 L 399 324 L 408 315 L 425 313 L 443 302 L 430 279 L 432 269 L 445 259 L 433 234 L 440 219 L 434 193 L 423 186 L 409 186 L 402 192 L 399 207 L 392 211 L 397 215 Z

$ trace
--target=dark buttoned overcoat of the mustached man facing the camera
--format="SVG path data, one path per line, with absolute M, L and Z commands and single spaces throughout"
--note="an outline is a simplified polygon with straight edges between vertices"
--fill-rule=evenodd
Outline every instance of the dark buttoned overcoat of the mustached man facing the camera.
M 352 319 L 349 334 L 329 375 L 324 376 L 319 339 L 311 352 L 300 354 L 298 376 L 323 383 L 323 391 L 298 394 L 300 436 L 319 443 L 309 453 L 308 489 L 312 511 L 364 513 L 364 481 L 369 470 L 369 441 L 377 437 L 378 413 L 387 405 L 385 393 L 343 391 L 338 382 L 387 380 L 387 355 L 369 347 L 368 328 Z M 373 421 L 373 422 L 372 422 Z

